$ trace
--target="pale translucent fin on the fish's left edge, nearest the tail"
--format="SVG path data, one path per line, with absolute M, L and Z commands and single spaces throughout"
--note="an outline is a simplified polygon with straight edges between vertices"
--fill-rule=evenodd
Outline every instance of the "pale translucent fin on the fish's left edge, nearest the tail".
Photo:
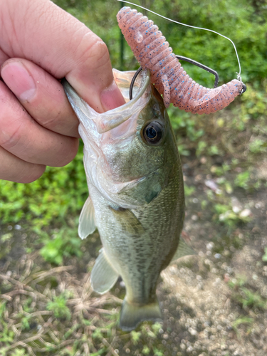
M 91 286 L 93 290 L 100 294 L 108 292 L 115 285 L 118 277 L 119 274 L 105 256 L 104 248 L 101 248 L 91 273 Z

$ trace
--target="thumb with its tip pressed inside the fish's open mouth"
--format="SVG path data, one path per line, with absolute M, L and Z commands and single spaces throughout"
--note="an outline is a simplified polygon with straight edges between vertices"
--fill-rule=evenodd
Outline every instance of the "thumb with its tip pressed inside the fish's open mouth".
M 107 46 L 66 11 L 49 0 L 9 0 L 1 2 L 0 18 L 0 52 L 33 61 L 55 78 L 66 77 L 98 112 L 125 103 Z

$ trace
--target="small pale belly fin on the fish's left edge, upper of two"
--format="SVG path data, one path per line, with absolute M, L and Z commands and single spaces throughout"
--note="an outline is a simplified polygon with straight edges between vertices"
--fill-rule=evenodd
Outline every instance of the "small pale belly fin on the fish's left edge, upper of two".
M 82 240 L 88 235 L 93 234 L 95 231 L 96 226 L 94 212 L 92 199 L 88 197 L 83 205 L 79 219 L 78 234 Z

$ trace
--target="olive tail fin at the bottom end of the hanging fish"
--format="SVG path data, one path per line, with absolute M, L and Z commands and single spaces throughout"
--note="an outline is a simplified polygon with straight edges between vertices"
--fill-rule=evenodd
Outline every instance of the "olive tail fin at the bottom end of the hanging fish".
M 159 303 L 147 305 L 134 305 L 123 301 L 120 312 L 120 328 L 124 331 L 130 331 L 137 328 L 142 321 L 162 321 L 162 313 L 159 309 Z

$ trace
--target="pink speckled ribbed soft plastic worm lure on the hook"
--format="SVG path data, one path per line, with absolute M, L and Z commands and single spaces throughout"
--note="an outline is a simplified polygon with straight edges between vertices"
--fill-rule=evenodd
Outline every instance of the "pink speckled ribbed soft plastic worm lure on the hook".
M 137 10 L 123 7 L 117 21 L 137 61 L 142 68 L 150 69 L 151 81 L 163 95 L 166 107 L 172 103 L 187 112 L 210 114 L 224 109 L 244 92 L 244 84 L 236 79 L 213 89 L 192 80 L 159 28 Z

